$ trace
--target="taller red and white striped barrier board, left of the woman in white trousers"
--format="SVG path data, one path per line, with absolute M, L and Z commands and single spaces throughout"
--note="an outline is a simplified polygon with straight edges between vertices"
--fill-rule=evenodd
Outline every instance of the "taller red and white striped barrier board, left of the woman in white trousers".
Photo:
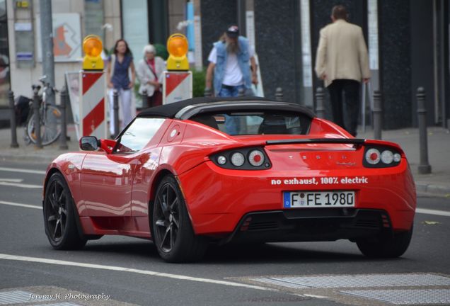
M 80 137 L 107 138 L 106 83 L 103 72 L 80 72 Z

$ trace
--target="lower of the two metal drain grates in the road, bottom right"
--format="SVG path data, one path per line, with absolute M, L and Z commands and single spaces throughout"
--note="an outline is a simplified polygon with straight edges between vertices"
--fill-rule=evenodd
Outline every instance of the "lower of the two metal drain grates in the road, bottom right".
M 349 290 L 340 292 L 381 300 L 394 305 L 450 304 L 450 289 Z

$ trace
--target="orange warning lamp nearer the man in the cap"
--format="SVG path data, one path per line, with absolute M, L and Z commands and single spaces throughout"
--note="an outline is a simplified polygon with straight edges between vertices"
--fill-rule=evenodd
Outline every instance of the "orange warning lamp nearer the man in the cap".
M 189 70 L 188 39 L 183 34 L 173 34 L 167 40 L 168 70 Z

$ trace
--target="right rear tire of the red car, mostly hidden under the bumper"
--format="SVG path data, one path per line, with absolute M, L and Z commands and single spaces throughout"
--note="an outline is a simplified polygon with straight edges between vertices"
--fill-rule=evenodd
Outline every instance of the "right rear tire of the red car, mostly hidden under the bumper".
M 408 249 L 412 237 L 409 231 L 394 232 L 391 235 L 380 235 L 372 239 L 357 241 L 359 251 L 365 256 L 374 258 L 394 258 L 402 256 Z

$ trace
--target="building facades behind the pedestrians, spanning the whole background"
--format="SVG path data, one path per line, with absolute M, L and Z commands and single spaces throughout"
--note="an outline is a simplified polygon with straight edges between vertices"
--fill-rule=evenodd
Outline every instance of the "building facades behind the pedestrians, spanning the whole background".
M 336 4 L 347 6 L 350 22 L 363 28 L 372 72 L 367 91 L 383 94 L 383 128 L 417 125 L 419 86 L 427 93 L 428 124 L 448 128 L 446 0 L 53 0 L 54 37 L 61 38 L 55 85 L 62 88 L 64 74 L 81 68 L 81 40 L 87 34 L 100 35 L 106 50 L 125 38 L 137 62 L 148 42 L 165 45 L 172 33 L 195 26 L 188 35 L 195 49 L 190 60 L 202 69 L 226 26 L 238 23 L 255 46 L 265 96 L 275 98 L 275 89 L 282 87 L 286 101 L 314 109 L 314 93 L 323 86 L 313 74 L 318 33 L 330 23 Z M 42 75 L 39 5 L 38 0 L 0 0 L 0 110 L 8 105 L 10 88 L 16 96 L 31 96 L 30 85 Z M 370 113 L 371 95 L 365 101 Z M 328 98 L 326 115 L 332 119 Z

